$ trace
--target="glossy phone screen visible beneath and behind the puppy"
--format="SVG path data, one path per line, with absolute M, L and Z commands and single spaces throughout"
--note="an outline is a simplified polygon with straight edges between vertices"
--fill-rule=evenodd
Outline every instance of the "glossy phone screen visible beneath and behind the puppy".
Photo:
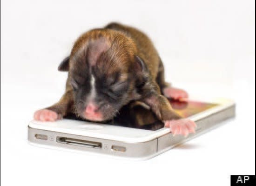
M 199 101 L 169 101 L 172 108 L 175 109 L 175 111 L 183 118 L 187 118 L 217 106 L 217 104 Z M 75 116 L 67 116 L 66 119 L 81 120 Z M 164 127 L 162 121 L 158 120 L 151 110 L 140 104 L 136 104 L 135 106 L 124 106 L 120 110 L 120 114 L 116 116 L 114 120 L 105 122 L 104 124 L 152 131 L 156 131 Z

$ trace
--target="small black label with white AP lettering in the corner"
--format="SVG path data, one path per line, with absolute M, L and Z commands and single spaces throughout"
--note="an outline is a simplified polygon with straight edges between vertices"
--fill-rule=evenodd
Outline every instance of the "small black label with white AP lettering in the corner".
M 231 175 L 231 186 L 255 186 L 255 175 Z

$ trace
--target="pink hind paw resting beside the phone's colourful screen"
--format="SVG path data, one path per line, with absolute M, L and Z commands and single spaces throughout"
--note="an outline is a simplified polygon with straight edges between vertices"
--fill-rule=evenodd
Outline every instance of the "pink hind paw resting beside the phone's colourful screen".
M 174 100 L 184 100 L 189 97 L 188 93 L 182 89 L 173 88 L 173 87 L 165 87 L 163 88 L 163 94 Z

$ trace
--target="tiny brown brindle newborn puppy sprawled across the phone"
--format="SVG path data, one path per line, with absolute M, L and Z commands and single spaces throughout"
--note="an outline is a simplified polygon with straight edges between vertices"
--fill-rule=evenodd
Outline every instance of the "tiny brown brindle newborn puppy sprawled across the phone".
M 66 92 L 53 106 L 36 111 L 35 120 L 54 121 L 75 113 L 82 119 L 106 121 L 138 100 L 174 135 L 195 133 L 195 123 L 175 113 L 166 98 L 186 99 L 187 93 L 168 86 L 155 47 L 133 27 L 111 23 L 82 34 L 59 70 L 68 71 Z

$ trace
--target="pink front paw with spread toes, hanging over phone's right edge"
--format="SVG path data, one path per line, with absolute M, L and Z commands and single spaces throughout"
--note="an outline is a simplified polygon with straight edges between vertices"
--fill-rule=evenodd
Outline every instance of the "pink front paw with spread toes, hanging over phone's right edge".
M 195 133 L 196 127 L 195 122 L 188 119 L 168 120 L 164 122 L 164 125 L 171 129 L 173 136 L 176 134 L 182 134 L 185 137 L 187 137 L 189 133 Z

